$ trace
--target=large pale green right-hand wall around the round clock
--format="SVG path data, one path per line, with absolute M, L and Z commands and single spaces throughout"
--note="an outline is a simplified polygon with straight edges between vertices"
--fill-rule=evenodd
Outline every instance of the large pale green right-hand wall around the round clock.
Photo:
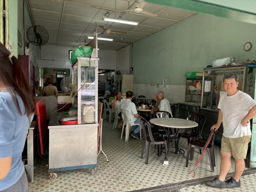
M 195 14 L 133 43 L 134 83 L 185 84 L 187 72 L 199 72 L 212 60 L 256 59 L 256 25 Z M 252 49 L 244 51 L 250 41 Z

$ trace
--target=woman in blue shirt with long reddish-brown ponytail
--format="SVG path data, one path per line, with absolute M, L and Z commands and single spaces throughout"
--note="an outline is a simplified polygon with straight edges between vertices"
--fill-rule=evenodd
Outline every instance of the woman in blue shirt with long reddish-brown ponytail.
M 34 110 L 34 97 L 18 59 L 0 43 L 1 192 L 28 191 L 21 155 Z

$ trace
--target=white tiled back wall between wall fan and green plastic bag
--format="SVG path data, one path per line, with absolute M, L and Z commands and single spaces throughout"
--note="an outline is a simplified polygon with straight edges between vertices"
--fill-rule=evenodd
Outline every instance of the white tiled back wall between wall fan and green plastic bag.
M 41 46 L 41 59 L 49 60 L 40 60 L 39 49 L 39 67 L 70 68 L 71 63 L 69 63 L 69 50 L 71 50 L 72 48 L 73 47 L 56 45 Z

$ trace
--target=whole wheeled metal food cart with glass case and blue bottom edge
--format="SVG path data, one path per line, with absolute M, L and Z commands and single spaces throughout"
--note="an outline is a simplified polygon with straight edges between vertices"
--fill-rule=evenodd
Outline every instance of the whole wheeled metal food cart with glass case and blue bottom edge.
M 51 115 L 49 129 L 49 169 L 50 179 L 55 180 L 55 172 L 97 167 L 98 133 L 98 50 L 97 33 L 86 46 L 93 48 L 91 58 L 77 57 L 72 63 L 72 88 L 70 99 L 78 102 L 78 124 L 63 125 L 63 112 Z M 93 58 L 94 57 L 94 58 Z M 96 109 L 96 110 L 95 110 Z

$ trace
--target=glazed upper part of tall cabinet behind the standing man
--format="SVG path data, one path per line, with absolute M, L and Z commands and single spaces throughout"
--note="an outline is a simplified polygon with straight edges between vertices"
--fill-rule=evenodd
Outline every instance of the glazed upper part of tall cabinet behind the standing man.
M 223 76 L 226 73 L 236 73 L 239 76 L 238 90 L 247 92 L 250 86 L 250 76 L 255 74 L 255 65 L 238 65 L 205 68 L 203 71 L 201 109 L 219 111 L 218 104 L 220 96 L 225 93 Z M 248 79 L 249 77 L 249 79 Z M 253 81 L 253 79 L 251 79 Z M 246 89 L 247 88 L 247 89 Z

